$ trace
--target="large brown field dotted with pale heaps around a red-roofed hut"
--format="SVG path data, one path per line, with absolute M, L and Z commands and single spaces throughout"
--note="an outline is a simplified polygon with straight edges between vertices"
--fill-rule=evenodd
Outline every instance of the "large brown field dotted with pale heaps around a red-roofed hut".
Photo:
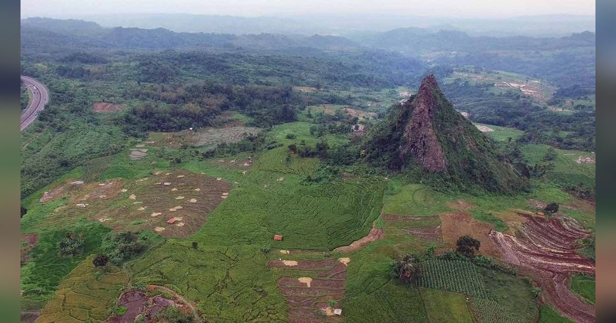
M 159 228 L 155 232 L 161 236 L 187 237 L 201 228 L 231 189 L 222 179 L 180 169 L 157 172 L 137 182 L 134 193 L 124 193 L 132 204 L 89 218 L 118 231 Z

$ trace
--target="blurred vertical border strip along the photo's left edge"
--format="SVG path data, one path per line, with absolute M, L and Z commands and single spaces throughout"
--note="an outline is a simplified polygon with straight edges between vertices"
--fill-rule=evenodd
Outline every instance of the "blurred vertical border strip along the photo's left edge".
M 20 1 L 0 4 L 0 321 L 18 322 L 19 311 L 19 71 Z

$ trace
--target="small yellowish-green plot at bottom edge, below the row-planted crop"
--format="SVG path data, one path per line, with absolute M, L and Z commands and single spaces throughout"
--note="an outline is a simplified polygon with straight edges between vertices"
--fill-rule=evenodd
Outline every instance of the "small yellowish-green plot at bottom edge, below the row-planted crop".
M 426 305 L 429 322 L 473 322 L 463 294 L 424 288 L 419 288 L 419 292 Z

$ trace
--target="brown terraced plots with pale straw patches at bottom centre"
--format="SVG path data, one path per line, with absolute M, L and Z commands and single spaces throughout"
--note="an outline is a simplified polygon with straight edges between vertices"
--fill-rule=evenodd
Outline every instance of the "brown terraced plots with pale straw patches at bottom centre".
M 346 263 L 349 258 L 329 258 L 325 260 L 296 259 L 296 265 L 285 265 L 286 260 L 272 260 L 269 266 L 283 269 L 283 277 L 278 279 L 278 290 L 289 305 L 288 318 L 291 323 L 336 322 L 341 316 L 323 315 L 329 301 L 344 298 Z M 309 278 L 310 277 L 310 278 Z

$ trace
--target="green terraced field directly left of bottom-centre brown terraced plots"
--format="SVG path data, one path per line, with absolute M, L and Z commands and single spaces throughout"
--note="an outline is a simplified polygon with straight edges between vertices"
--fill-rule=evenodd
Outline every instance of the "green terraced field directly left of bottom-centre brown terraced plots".
M 195 301 L 208 321 L 285 321 L 278 276 L 267 262 L 256 245 L 193 248 L 170 239 L 128 269 L 134 284 L 162 285 Z

